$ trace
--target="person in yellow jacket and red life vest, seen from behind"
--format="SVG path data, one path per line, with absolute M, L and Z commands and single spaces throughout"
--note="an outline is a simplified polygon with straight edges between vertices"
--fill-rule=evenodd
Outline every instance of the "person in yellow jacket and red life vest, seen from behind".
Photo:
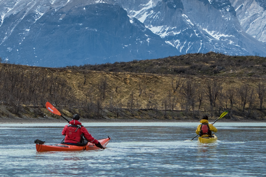
M 208 116 L 203 116 L 200 120 L 200 123 L 197 127 L 196 133 L 200 136 L 209 135 L 212 136 L 212 132 L 217 132 L 217 129 L 213 126 L 213 124 L 209 124 Z

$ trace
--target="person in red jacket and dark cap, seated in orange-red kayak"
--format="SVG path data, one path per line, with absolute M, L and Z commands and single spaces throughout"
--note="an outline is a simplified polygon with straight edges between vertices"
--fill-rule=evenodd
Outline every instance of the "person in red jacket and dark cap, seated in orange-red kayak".
M 73 115 L 72 121 L 66 125 L 62 131 L 62 135 L 65 136 L 64 143 L 62 144 L 75 144 L 86 145 L 85 140 L 95 144 L 98 148 L 103 148 L 100 142 L 93 138 L 87 129 L 79 122 L 80 116 L 78 114 Z M 83 139 L 85 138 L 85 140 Z

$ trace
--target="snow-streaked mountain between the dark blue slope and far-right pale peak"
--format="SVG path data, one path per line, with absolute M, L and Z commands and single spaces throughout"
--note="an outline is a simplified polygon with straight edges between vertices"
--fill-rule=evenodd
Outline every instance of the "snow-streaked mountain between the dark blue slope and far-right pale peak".
M 263 43 L 243 30 L 229 0 L 117 1 L 181 53 L 266 54 Z

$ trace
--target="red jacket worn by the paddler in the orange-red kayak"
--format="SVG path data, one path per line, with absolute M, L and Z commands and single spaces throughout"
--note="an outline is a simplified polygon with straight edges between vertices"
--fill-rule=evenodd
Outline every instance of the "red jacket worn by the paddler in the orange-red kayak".
M 98 144 L 98 140 L 94 139 L 88 132 L 88 130 L 81 125 L 77 120 L 72 120 L 66 125 L 62 131 L 62 135 L 65 136 L 66 143 L 77 143 L 80 142 L 81 137 L 94 144 Z

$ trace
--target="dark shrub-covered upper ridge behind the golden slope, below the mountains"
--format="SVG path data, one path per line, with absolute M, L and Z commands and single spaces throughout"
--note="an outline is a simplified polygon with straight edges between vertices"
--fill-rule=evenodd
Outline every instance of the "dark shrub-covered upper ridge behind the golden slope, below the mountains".
M 132 72 L 153 74 L 181 74 L 186 76 L 255 77 L 266 76 L 266 58 L 258 56 L 229 56 L 221 53 L 195 53 L 153 60 L 133 60 L 105 64 L 67 66 L 66 69 L 105 72 Z M 246 72 L 240 71 L 246 68 Z M 255 72 L 254 72 L 255 71 Z M 258 72 L 256 72 L 258 71 Z

